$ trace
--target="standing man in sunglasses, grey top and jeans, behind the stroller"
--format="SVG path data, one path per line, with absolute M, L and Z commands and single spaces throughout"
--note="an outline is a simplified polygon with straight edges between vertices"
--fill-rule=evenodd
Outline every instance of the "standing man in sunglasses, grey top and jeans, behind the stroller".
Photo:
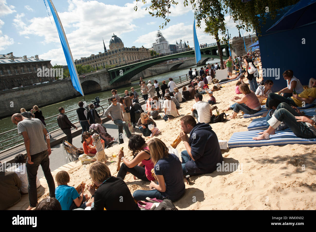
M 117 99 L 112 96 L 110 98 L 110 101 L 112 102 L 112 104 L 107 108 L 105 115 L 110 118 L 115 125 L 118 125 L 118 129 L 119 129 L 119 143 L 122 144 L 124 143 L 123 140 L 123 127 L 126 133 L 127 138 L 131 137 L 131 132 L 128 129 L 128 125 L 126 122 L 123 121 L 123 115 L 122 115 L 122 111 L 121 111 L 121 106 L 120 104 L 117 103 Z M 110 115 L 108 115 L 110 114 Z

